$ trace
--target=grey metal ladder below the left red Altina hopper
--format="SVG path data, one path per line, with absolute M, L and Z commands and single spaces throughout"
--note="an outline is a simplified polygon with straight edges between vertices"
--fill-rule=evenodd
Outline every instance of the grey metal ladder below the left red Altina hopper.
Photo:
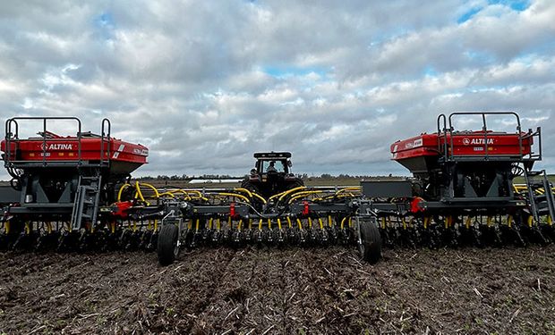
M 84 222 L 90 222 L 92 228 L 97 222 L 101 180 L 101 176 L 79 177 L 73 203 L 72 230 L 81 230 Z

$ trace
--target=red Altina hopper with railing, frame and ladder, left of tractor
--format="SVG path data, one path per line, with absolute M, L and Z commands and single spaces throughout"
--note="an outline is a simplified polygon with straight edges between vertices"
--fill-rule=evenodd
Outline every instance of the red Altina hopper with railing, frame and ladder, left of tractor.
M 20 130 L 31 123 L 40 124 L 38 136 L 21 138 Z M 62 136 L 51 131 L 61 123 L 72 124 L 74 134 Z M 99 134 L 83 132 L 81 120 L 75 117 L 8 119 L 0 148 L 12 176 L 11 185 L 19 193 L 19 202 L 10 204 L 7 212 L 13 216 L 13 224 L 40 217 L 69 222 L 68 231 L 85 225 L 93 229 L 98 208 L 115 202 L 116 189 L 147 163 L 149 155 L 147 147 L 113 138 L 110 131 L 107 119 Z

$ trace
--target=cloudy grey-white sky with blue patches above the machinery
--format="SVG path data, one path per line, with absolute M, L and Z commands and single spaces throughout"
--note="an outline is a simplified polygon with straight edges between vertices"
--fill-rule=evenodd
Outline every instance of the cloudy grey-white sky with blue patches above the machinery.
M 552 0 L 2 1 L 0 114 L 107 117 L 149 147 L 136 175 L 243 174 L 258 150 L 383 174 L 438 113 L 514 110 L 555 172 L 554 18 Z

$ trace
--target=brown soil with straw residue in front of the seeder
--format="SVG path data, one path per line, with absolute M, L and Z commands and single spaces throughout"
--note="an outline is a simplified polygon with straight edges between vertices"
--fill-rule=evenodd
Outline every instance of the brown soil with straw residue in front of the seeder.
M 555 246 L 0 254 L 0 333 L 555 333 Z

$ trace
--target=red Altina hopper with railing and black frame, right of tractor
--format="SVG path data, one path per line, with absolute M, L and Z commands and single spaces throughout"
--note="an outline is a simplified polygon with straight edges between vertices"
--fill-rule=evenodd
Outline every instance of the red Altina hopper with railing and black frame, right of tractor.
M 482 121 L 481 130 L 456 129 L 456 120 L 464 123 L 473 118 Z M 495 118 L 514 124 L 515 130 L 488 129 L 488 121 Z M 542 159 L 539 128 L 521 130 L 520 118 L 513 112 L 440 114 L 437 126 L 435 133 L 398 140 L 390 147 L 392 159 L 414 174 L 416 196 L 440 201 L 449 210 L 469 204 L 517 203 L 513 179 Z

